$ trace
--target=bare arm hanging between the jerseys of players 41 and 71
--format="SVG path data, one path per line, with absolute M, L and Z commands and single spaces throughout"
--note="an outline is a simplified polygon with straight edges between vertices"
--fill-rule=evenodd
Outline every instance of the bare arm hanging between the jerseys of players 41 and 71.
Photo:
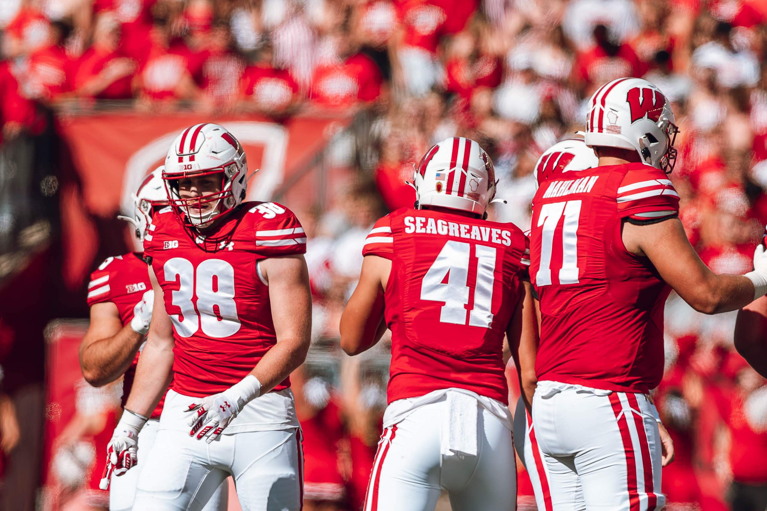
M 530 410 L 532 396 L 537 384 L 535 353 L 538 351 L 538 318 L 532 285 L 529 282 L 521 282 L 520 291 L 521 295 L 512 321 L 506 331 L 506 338 L 509 341 L 509 349 L 517 367 L 519 384 L 522 389 L 522 401 L 525 401 L 525 407 Z

